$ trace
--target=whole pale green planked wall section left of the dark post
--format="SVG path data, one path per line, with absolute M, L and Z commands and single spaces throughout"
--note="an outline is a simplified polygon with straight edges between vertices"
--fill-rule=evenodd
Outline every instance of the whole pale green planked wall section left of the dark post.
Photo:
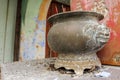
M 17 0 L 0 0 L 0 63 L 12 62 Z

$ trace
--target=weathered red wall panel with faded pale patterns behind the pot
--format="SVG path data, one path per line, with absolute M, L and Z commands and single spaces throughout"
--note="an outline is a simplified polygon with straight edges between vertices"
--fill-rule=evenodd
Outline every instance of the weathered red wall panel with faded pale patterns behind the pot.
M 71 10 L 95 11 L 104 15 L 102 22 L 111 29 L 111 37 L 98 56 L 103 64 L 120 65 L 120 0 L 71 0 Z

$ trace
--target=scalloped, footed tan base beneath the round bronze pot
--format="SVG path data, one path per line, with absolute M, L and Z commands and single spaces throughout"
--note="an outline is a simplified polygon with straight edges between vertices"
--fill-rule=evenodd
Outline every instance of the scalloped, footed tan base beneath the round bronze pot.
M 101 63 L 96 53 L 84 54 L 59 54 L 55 61 L 55 68 L 64 67 L 66 70 L 74 70 L 77 75 L 82 75 L 84 70 L 93 71 L 101 67 Z

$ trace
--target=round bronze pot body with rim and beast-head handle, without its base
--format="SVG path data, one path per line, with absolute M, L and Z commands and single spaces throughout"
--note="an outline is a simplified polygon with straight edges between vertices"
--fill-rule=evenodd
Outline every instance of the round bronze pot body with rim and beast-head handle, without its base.
M 100 24 L 103 15 L 96 12 L 64 12 L 51 16 L 48 45 L 57 53 L 87 53 L 103 47 L 109 29 Z

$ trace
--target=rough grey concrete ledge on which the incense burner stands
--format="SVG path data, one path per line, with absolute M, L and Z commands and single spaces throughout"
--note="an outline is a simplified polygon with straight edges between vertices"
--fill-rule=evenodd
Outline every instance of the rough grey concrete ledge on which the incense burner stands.
M 86 73 L 82 76 L 75 74 L 61 74 L 51 71 L 49 64 L 54 64 L 54 59 L 41 59 L 26 62 L 2 64 L 2 80 L 120 80 L 120 68 L 104 67 L 99 71 Z M 95 77 L 98 72 L 108 72 L 109 77 Z

